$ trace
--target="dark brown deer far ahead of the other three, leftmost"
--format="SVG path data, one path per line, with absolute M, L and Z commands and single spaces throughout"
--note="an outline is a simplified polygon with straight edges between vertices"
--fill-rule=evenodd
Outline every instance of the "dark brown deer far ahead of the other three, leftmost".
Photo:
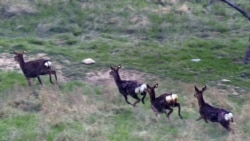
M 30 79 L 37 78 L 39 83 L 42 84 L 40 75 L 49 75 L 50 83 L 53 84 L 51 80 L 51 75 L 55 76 L 57 82 L 56 71 L 51 69 L 51 62 L 48 59 L 37 59 L 25 62 L 23 59 L 23 55 L 25 52 L 18 53 L 13 51 L 15 54 L 15 60 L 19 63 L 20 68 L 23 71 L 24 76 L 26 77 L 29 86 L 31 85 Z

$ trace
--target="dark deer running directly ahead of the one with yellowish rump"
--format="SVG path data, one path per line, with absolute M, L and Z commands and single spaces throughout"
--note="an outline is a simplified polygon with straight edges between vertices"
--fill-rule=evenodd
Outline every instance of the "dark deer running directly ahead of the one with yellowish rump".
M 138 97 L 138 94 L 141 94 L 142 97 L 142 103 L 144 104 L 144 98 L 146 96 L 146 84 L 138 83 L 135 80 L 122 80 L 119 75 L 119 69 L 121 68 L 121 65 L 117 67 L 110 67 L 110 75 L 113 76 L 115 83 L 118 87 L 119 92 L 123 95 L 126 102 L 132 106 L 136 106 L 137 103 L 140 102 L 140 98 Z M 136 99 L 136 101 L 132 104 L 128 101 L 128 95 Z

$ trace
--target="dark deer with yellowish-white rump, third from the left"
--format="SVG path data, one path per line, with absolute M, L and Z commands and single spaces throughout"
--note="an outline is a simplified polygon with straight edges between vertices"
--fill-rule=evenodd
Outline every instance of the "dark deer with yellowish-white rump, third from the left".
M 177 94 L 172 93 L 164 93 L 159 97 L 155 97 L 155 88 L 158 87 L 158 83 L 154 86 L 147 85 L 147 92 L 150 96 L 150 103 L 155 116 L 158 117 L 159 113 L 165 113 L 166 117 L 169 119 L 169 115 L 173 112 L 172 107 L 178 107 L 178 115 L 182 119 L 181 116 L 181 105 L 177 102 L 178 96 Z M 169 112 L 167 113 L 167 110 Z

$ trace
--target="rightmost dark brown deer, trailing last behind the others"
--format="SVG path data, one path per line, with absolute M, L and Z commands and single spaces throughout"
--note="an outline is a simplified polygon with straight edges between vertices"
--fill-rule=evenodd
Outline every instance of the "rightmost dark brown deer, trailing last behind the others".
M 206 86 L 201 90 L 194 86 L 194 89 L 194 96 L 197 98 L 200 107 L 200 117 L 196 120 L 204 119 L 207 123 L 208 120 L 211 122 L 219 122 L 228 131 L 234 133 L 234 130 L 230 127 L 230 122 L 233 122 L 233 114 L 225 109 L 213 107 L 204 101 L 203 92 L 206 90 Z

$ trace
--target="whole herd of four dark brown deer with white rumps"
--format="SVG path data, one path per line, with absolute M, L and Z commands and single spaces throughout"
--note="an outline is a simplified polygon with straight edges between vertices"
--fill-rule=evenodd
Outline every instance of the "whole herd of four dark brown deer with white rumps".
M 54 75 L 55 81 L 57 84 L 57 75 L 56 71 L 51 68 L 51 61 L 48 59 L 37 59 L 32 61 L 24 61 L 23 55 L 25 52 L 18 53 L 16 51 L 12 52 L 15 56 L 15 60 L 19 63 L 20 68 L 28 81 L 28 85 L 31 86 L 30 79 L 37 78 L 39 83 L 42 84 L 40 75 L 49 75 L 50 83 L 54 84 L 51 78 L 51 75 Z M 144 99 L 146 95 L 149 95 L 150 104 L 155 116 L 158 120 L 158 116 L 160 113 L 165 113 L 167 119 L 169 119 L 170 114 L 173 112 L 173 108 L 178 108 L 178 115 L 180 119 L 183 119 L 181 115 L 181 104 L 178 103 L 178 95 L 174 93 L 164 93 L 160 96 L 156 97 L 155 89 L 158 87 L 158 83 L 153 86 L 150 86 L 147 83 L 139 83 L 135 80 L 123 80 L 120 77 L 119 70 L 121 69 L 121 65 L 117 67 L 110 67 L 110 75 L 114 78 L 115 84 L 123 95 L 127 104 L 136 107 L 136 105 L 142 101 L 144 104 Z M 210 122 L 218 122 L 225 129 L 234 133 L 234 130 L 230 127 L 230 123 L 233 122 L 233 114 L 225 109 L 217 108 L 211 106 L 206 103 L 203 98 L 203 93 L 206 90 L 206 86 L 199 89 L 194 86 L 194 97 L 197 98 L 199 105 L 199 114 L 200 117 L 196 119 L 197 121 L 203 119 L 206 123 Z M 139 98 L 139 95 L 142 98 Z M 131 96 L 136 101 L 131 103 L 128 101 L 128 96 Z M 168 111 L 168 112 L 167 112 Z

